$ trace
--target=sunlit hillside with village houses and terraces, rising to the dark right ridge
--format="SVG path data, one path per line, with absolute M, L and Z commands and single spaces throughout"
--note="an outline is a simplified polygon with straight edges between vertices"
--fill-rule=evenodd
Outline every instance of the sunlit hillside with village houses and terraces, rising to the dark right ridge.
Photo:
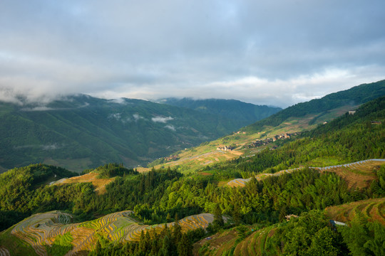
M 385 81 L 358 85 L 321 99 L 288 107 L 233 134 L 185 151 L 177 151 L 173 154 L 178 156 L 177 159 L 154 161 L 150 166 L 157 168 L 178 166 L 180 171 L 197 171 L 240 156 L 253 156 L 267 146 L 276 148 L 287 142 L 290 137 L 298 137 L 298 134 L 315 129 L 319 124 L 327 124 L 349 110 L 356 110 L 362 103 L 383 95 L 385 95 Z M 371 111 L 367 110 L 366 113 Z M 225 146 L 231 146 L 232 150 L 222 150 Z M 334 163 L 335 161 L 332 161 L 329 165 Z

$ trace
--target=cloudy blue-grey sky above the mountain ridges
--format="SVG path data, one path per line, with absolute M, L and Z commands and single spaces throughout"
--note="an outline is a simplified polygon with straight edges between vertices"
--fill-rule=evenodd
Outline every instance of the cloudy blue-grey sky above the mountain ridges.
M 0 0 L 0 100 L 287 107 L 385 79 L 384 0 Z

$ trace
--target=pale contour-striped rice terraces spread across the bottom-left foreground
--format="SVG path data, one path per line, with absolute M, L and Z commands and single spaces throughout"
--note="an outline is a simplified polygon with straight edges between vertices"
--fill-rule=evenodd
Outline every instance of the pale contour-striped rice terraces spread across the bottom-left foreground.
M 38 213 L 0 234 L 0 252 L 1 255 L 12 252 L 12 248 L 7 247 L 7 242 L 1 239 L 5 235 L 8 236 L 7 240 L 10 239 L 9 237 L 23 240 L 40 256 L 49 255 L 49 249 L 55 242 L 66 238 L 64 239 L 65 245 L 68 246 L 66 255 L 77 255 L 91 250 L 96 244 L 98 235 L 113 242 L 125 242 L 139 240 L 142 230 L 144 232 L 153 229 L 161 230 L 165 225 L 175 225 L 175 223 L 143 225 L 132 218 L 131 214 L 132 211 L 125 210 L 84 223 L 71 223 L 72 216 L 58 210 Z M 207 228 L 213 220 L 212 214 L 201 213 L 183 218 L 179 223 L 185 232 L 195 228 Z

